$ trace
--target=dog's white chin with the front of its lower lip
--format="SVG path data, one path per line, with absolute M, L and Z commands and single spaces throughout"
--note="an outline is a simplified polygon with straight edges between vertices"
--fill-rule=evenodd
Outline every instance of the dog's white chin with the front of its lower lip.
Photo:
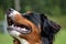
M 14 26 L 8 26 L 8 32 L 11 36 L 13 37 L 19 37 L 19 35 L 21 34 L 20 32 L 16 31 L 18 28 Z M 20 29 L 18 29 L 20 30 Z

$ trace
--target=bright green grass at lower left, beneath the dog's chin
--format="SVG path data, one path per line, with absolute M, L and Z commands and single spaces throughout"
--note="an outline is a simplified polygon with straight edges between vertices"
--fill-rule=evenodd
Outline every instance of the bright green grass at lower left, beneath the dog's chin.
M 13 44 L 12 40 L 13 38 L 8 34 L 0 34 L 0 44 Z

